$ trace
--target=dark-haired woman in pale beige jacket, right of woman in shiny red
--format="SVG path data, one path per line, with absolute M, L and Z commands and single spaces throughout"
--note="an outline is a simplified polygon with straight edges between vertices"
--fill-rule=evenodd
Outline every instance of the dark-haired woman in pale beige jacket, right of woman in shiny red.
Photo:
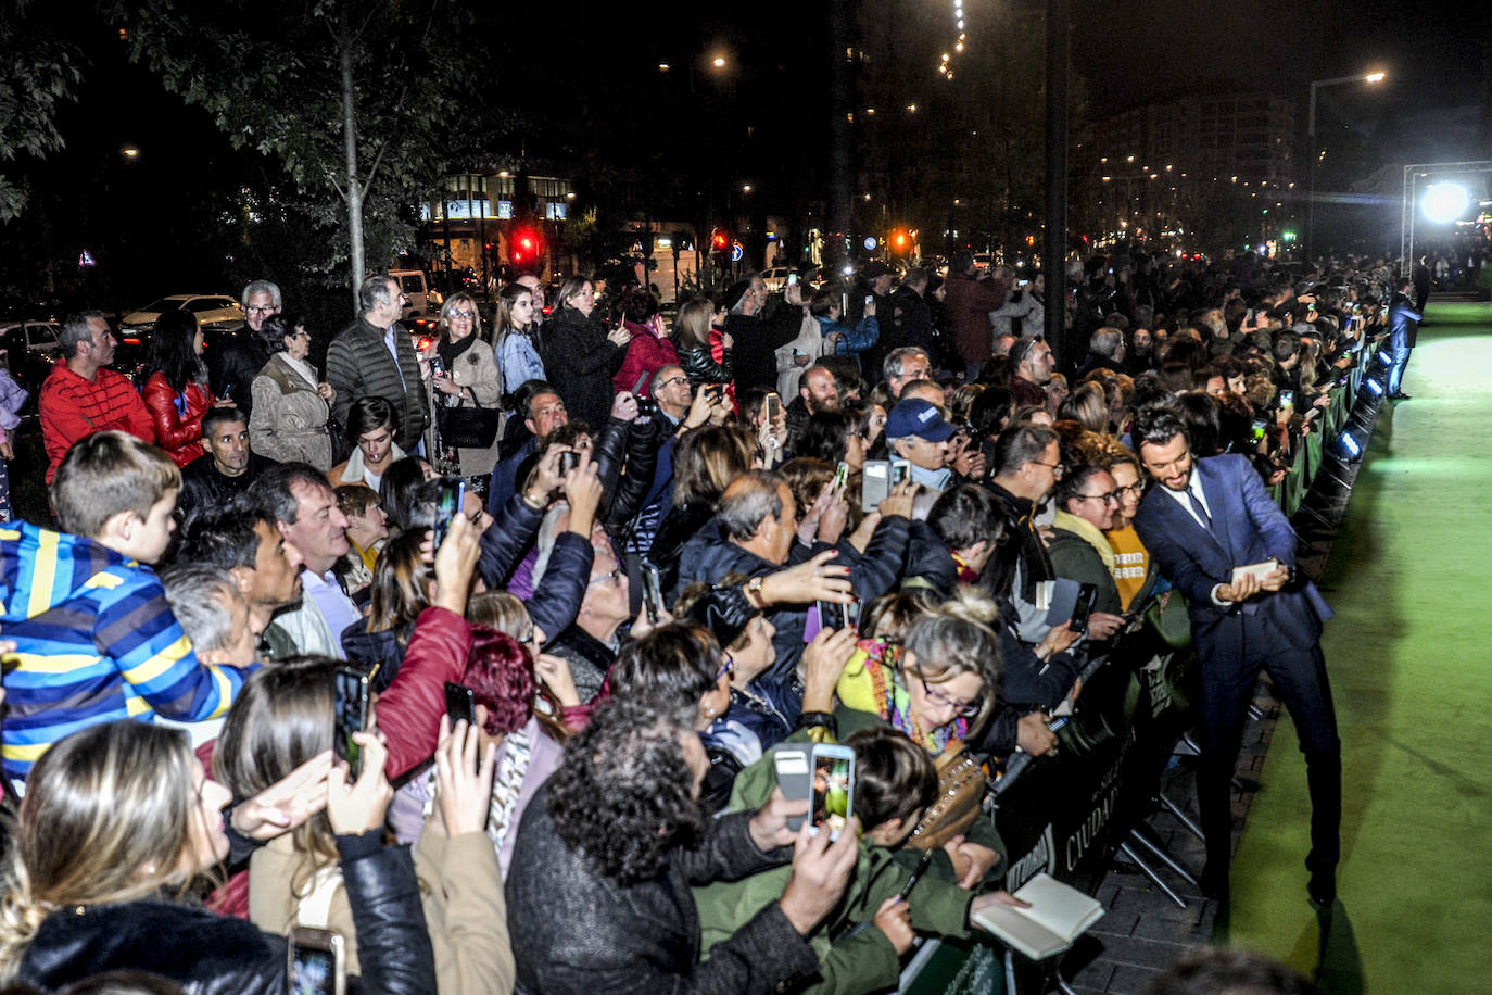
M 273 355 L 254 377 L 249 415 L 251 449 L 279 462 L 309 462 L 321 471 L 333 464 L 331 403 L 337 392 L 310 365 L 310 333 L 292 315 L 272 315 L 260 325 Z

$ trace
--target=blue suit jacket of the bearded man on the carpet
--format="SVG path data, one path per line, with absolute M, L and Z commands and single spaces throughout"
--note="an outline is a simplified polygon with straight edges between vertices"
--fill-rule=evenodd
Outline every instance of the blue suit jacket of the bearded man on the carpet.
M 1201 479 L 1212 531 L 1170 494 L 1161 494 L 1159 485 L 1144 495 L 1134 527 L 1161 574 L 1186 595 L 1201 658 L 1243 662 L 1246 616 L 1264 624 L 1270 643 L 1310 649 L 1331 609 L 1308 580 L 1241 606 L 1213 604 L 1213 588 L 1229 583 L 1234 567 L 1265 559 L 1294 567 L 1295 530 L 1244 456 L 1198 459 L 1192 473 Z

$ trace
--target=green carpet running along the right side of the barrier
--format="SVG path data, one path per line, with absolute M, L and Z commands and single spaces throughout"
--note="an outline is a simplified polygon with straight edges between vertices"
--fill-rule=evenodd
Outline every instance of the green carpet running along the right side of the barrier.
M 1323 992 L 1492 992 L 1492 306 L 1434 301 L 1322 591 L 1343 740 L 1340 900 L 1306 900 L 1310 801 L 1282 718 L 1228 940 Z M 1222 937 L 1219 937 L 1220 940 Z

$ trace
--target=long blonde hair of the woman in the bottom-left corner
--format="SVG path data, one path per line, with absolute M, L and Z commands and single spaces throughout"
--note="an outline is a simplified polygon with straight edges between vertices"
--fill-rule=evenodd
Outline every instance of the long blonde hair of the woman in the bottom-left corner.
M 13 979 L 58 908 L 158 895 L 197 876 L 197 812 L 186 734 L 143 722 L 93 725 L 31 768 L 0 898 L 0 979 Z

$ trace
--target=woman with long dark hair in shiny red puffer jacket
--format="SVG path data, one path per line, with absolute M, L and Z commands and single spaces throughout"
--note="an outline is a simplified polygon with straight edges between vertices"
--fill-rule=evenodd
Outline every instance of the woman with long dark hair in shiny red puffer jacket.
M 216 404 L 207 386 L 201 346 L 201 328 L 194 315 L 169 310 L 155 322 L 142 392 L 155 422 L 155 439 L 178 467 L 203 453 L 201 416 Z

